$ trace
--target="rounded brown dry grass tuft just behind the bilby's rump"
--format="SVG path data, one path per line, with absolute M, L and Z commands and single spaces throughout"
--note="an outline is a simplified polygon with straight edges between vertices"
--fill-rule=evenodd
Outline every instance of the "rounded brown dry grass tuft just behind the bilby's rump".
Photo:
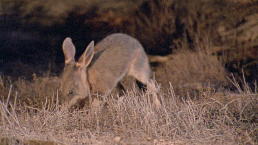
M 162 87 L 169 87 L 171 82 L 177 94 L 191 98 L 199 96 L 206 89 L 219 91 L 231 87 L 229 75 L 222 60 L 213 52 L 213 44 L 205 39 L 196 42 L 195 51 L 189 49 L 178 50 L 164 63 L 155 67 L 155 77 L 162 82 Z M 195 94 L 197 93 L 197 94 Z

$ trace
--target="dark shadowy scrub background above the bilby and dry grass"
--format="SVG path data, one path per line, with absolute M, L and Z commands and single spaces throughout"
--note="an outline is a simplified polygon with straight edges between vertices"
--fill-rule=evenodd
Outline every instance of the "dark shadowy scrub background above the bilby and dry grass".
M 147 54 L 161 56 L 178 49 L 195 52 L 208 38 L 228 73 L 240 77 L 244 72 L 253 83 L 257 14 L 257 1 L 1 1 L 0 74 L 29 80 L 34 73 L 58 76 L 66 37 L 72 38 L 78 58 L 90 41 L 122 32 L 137 38 Z

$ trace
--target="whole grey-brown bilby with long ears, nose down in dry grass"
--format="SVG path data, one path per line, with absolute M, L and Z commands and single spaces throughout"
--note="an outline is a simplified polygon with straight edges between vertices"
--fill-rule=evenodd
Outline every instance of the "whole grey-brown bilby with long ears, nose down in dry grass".
M 127 75 L 147 85 L 153 94 L 154 103 L 160 106 L 155 83 L 150 79 L 147 55 L 135 38 L 126 34 L 111 34 L 95 47 L 92 41 L 78 62 L 74 60 L 72 39 L 65 38 L 63 53 L 65 68 L 61 78 L 61 92 L 68 107 L 89 97 L 89 93 L 107 96 Z

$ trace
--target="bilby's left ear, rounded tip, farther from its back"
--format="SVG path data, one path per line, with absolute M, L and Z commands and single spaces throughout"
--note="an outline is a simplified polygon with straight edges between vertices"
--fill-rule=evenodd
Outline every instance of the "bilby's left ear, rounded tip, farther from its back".
M 74 61 L 75 46 L 72 43 L 72 38 L 67 37 L 65 41 L 63 41 L 63 54 L 65 54 L 65 64 Z

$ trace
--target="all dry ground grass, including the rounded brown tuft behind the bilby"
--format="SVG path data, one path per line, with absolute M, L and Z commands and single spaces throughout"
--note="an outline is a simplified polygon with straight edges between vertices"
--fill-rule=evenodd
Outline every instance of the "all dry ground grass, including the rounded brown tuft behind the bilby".
M 160 109 L 133 86 L 122 102 L 114 93 L 98 109 L 67 112 L 60 107 L 58 78 L 1 77 L 1 144 L 257 144 L 257 92 L 244 76 L 243 87 L 226 77 L 208 42 L 155 70 Z M 236 91 L 217 89 L 228 82 Z

